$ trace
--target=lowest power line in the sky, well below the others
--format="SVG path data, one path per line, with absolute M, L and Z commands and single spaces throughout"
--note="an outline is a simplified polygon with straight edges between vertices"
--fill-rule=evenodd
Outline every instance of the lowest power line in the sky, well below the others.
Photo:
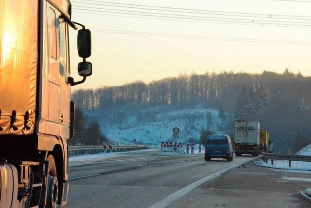
M 206 40 L 221 40 L 221 41 L 311 45 L 311 41 L 273 40 L 273 39 L 254 39 L 254 38 L 228 38 L 228 37 L 219 37 L 219 36 L 193 36 L 193 35 L 183 35 L 183 34 L 151 33 L 151 32 L 127 31 L 127 30 L 101 29 L 101 28 L 90 28 L 90 29 L 93 32 L 125 34 L 125 35 L 140 35 L 140 36 L 155 36 L 155 37 L 165 37 L 165 38 L 187 38 L 187 39 L 206 39 Z

